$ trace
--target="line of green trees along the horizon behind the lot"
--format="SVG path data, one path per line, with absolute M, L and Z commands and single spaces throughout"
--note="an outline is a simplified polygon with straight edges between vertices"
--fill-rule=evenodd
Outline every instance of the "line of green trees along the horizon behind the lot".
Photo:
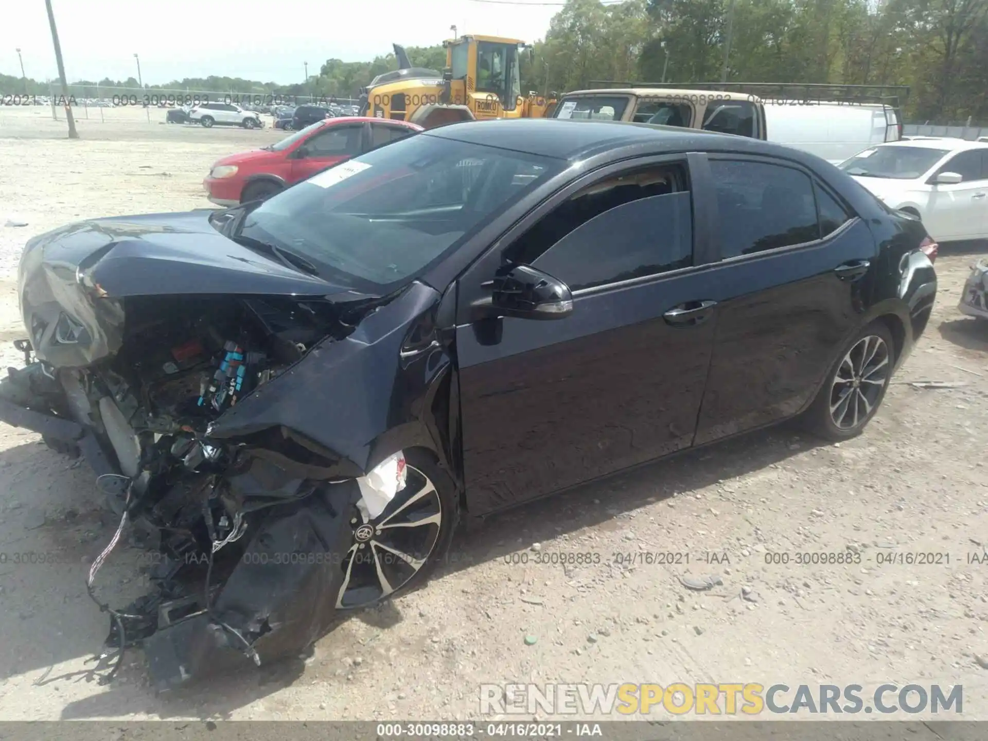
M 441 44 L 407 51 L 415 66 L 446 65 Z M 523 92 L 594 80 L 712 83 L 725 56 L 729 82 L 908 85 L 909 121 L 988 124 L 988 0 L 567 0 L 523 56 Z M 396 68 L 393 54 L 330 58 L 293 85 L 210 76 L 145 89 L 354 98 Z M 132 77 L 72 87 L 97 84 L 105 96 L 138 87 Z M 0 92 L 47 95 L 49 87 L 0 75 Z

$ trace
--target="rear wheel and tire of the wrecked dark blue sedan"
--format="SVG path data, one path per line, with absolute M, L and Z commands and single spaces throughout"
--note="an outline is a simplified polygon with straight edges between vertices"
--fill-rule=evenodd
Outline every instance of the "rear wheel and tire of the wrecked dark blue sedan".
M 884 322 L 871 322 L 841 349 L 827 372 L 803 416 L 806 429 L 835 442 L 860 435 L 885 398 L 894 366 L 892 333 Z

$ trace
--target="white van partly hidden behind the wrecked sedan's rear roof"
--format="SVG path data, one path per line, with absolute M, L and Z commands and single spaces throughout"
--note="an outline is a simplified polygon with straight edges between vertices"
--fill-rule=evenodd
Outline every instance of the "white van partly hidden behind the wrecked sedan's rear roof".
M 765 105 L 769 141 L 843 162 L 875 144 L 898 141 L 902 124 L 891 106 L 867 103 L 773 102 Z

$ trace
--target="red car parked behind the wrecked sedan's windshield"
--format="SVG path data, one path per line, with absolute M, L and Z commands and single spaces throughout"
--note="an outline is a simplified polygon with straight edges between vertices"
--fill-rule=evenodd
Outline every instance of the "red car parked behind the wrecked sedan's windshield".
M 219 206 L 270 198 L 320 170 L 421 130 L 403 121 L 326 119 L 277 144 L 216 160 L 203 186 L 209 201 Z

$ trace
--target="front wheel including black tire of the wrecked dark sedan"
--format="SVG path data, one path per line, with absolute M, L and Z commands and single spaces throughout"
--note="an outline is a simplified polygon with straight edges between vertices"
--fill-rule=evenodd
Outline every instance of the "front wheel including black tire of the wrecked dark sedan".
M 459 495 L 453 479 L 436 462 L 431 453 L 422 450 L 405 451 L 407 483 L 384 511 L 367 525 L 354 506 L 351 524 L 354 535 L 341 568 L 343 585 L 337 595 L 338 611 L 360 610 L 404 594 L 426 584 L 440 562 L 446 559 L 459 521 Z M 429 491 L 429 484 L 433 489 Z M 426 494 L 422 494 L 426 491 Z M 415 518 L 404 519 L 409 514 Z M 438 522 L 435 519 L 438 518 Z M 378 529 L 388 522 L 416 522 L 415 527 Z M 371 526 L 371 531 L 368 531 Z M 361 542 L 365 535 L 368 539 Z M 424 536 L 422 547 L 413 547 Z M 412 557 L 409 562 L 376 545 L 381 542 Z M 390 560 L 388 560 L 390 556 Z M 400 561 L 400 565 L 398 564 Z M 416 567 L 416 563 L 417 565 Z M 387 591 L 381 586 L 379 573 L 388 581 Z

